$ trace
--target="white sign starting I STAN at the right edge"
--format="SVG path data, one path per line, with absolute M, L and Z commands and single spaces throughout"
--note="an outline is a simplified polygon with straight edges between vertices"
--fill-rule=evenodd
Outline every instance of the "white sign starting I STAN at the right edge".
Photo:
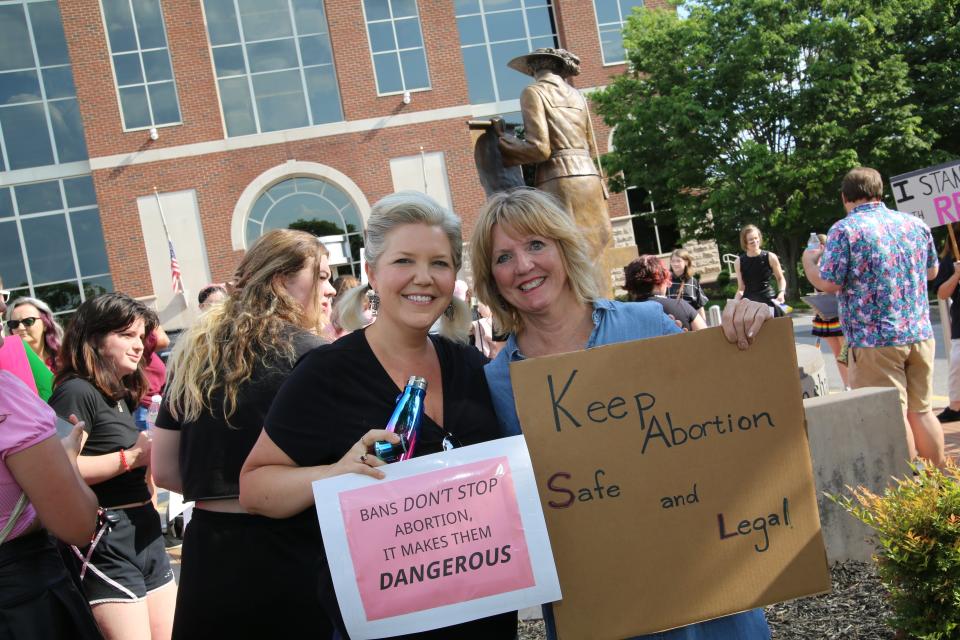
M 928 227 L 960 222 L 960 160 L 890 178 L 897 209 Z

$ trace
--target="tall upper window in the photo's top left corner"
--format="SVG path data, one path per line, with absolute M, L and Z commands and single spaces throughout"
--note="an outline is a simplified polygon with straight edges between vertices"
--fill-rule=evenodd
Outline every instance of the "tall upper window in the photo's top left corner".
M 57 3 L 0 4 L 0 171 L 86 159 Z

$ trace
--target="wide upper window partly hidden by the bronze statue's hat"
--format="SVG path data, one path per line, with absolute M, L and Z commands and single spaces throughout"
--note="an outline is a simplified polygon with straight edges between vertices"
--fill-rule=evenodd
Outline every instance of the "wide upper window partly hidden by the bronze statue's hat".
M 530 78 L 507 67 L 516 56 L 556 47 L 550 0 L 454 0 L 471 104 L 515 100 Z

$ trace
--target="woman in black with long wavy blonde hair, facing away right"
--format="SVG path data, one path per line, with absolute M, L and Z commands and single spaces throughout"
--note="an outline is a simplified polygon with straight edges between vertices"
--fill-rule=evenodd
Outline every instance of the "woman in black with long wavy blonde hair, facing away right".
M 327 258 L 309 233 L 265 234 L 240 262 L 229 297 L 177 342 L 153 444 L 156 483 L 196 503 L 174 638 L 330 631 L 310 606 L 315 570 L 292 555 L 298 541 L 312 539 L 316 519 L 251 515 L 238 499 L 240 467 L 277 390 L 297 359 L 322 344 L 317 333 L 334 292 Z

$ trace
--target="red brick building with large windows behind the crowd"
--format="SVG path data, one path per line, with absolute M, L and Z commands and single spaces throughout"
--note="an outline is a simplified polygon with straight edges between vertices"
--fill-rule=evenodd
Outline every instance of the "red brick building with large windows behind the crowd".
M 345 235 L 338 269 L 357 270 L 370 205 L 397 189 L 426 190 L 469 234 L 484 195 L 465 123 L 519 121 L 529 78 L 506 62 L 562 46 L 578 88 L 603 86 L 641 3 L 0 0 L 4 286 L 58 313 L 124 291 L 177 328 L 167 234 L 191 304 L 296 221 Z M 610 215 L 634 242 L 624 194 Z

